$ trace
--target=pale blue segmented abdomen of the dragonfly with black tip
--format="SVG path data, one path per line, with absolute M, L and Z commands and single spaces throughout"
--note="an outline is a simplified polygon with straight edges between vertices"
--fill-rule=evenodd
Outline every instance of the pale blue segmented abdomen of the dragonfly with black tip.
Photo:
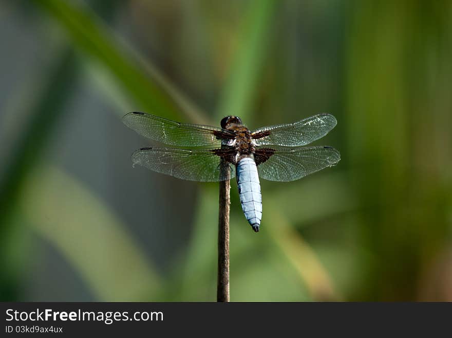
M 254 231 L 258 232 L 262 219 L 262 195 L 254 159 L 251 157 L 240 159 L 237 163 L 236 175 L 243 213 Z

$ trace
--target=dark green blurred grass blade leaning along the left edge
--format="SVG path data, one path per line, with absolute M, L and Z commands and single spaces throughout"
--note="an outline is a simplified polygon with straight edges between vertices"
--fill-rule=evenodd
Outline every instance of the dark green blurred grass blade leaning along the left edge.
M 47 145 L 48 138 L 52 135 L 51 131 L 57 125 L 61 113 L 62 106 L 69 98 L 69 87 L 77 79 L 77 63 L 74 60 L 73 52 L 67 48 L 57 52 L 55 64 L 43 73 L 40 91 L 37 99 L 34 95 L 29 98 L 33 108 L 29 121 L 24 122 L 25 128 L 22 137 L 17 142 L 16 148 L 11 153 L 11 158 L 6 163 L 6 170 L 0 182 L 0 247 L 7 247 L 11 236 L 17 232 L 12 227 L 16 224 L 13 221 L 17 203 L 23 196 L 24 179 L 32 170 L 34 165 L 39 162 L 43 149 Z M 29 93 L 24 93 L 27 97 Z M 28 105 L 26 108 L 29 108 Z M 20 114 L 18 112 L 17 115 Z M 7 253 L 0 256 L 0 266 L 8 266 L 3 260 L 9 259 Z M 8 279 L 6 280 L 8 275 Z M 16 287 L 17 281 L 14 281 L 14 274 L 5 274 L 0 281 L 0 290 L 4 287 L 11 289 L 10 286 Z

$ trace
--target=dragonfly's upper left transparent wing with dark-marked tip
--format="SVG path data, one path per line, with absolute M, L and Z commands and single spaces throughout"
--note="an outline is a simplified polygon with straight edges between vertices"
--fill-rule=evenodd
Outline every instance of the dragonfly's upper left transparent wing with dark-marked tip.
M 144 137 L 173 146 L 220 145 L 221 139 L 234 137 L 229 131 L 220 128 L 179 123 L 141 112 L 125 114 L 122 121 Z

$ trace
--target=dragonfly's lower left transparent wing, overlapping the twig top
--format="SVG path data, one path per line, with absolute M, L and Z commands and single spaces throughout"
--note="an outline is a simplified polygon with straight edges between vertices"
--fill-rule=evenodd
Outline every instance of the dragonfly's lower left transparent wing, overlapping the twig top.
M 230 178 L 235 176 L 235 166 L 221 161 L 222 158 L 231 155 L 231 150 L 219 148 L 200 150 L 142 148 L 132 154 L 132 162 L 134 166 L 139 164 L 181 180 L 218 182 L 227 179 L 220 170 L 222 163 L 231 169 Z

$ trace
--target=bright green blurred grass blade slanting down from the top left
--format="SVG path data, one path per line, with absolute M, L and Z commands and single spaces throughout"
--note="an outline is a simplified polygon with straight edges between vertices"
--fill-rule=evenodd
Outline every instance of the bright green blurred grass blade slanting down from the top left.
M 49 14 L 88 59 L 105 67 L 138 107 L 167 118 L 181 114 L 194 122 L 205 122 L 199 112 L 158 70 L 114 33 L 86 6 L 59 0 L 34 1 Z

